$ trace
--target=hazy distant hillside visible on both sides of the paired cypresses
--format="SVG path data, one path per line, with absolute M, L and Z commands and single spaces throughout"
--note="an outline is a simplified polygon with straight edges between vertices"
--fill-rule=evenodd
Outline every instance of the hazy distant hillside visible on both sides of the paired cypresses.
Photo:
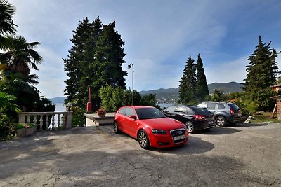
M 220 90 L 224 94 L 232 93 L 232 92 L 242 92 L 243 85 L 241 83 L 230 82 L 230 83 L 211 83 L 208 85 L 209 93 L 213 94 L 214 90 Z M 148 95 L 150 93 L 156 95 L 156 99 L 177 99 L 178 98 L 178 88 L 160 88 L 158 90 L 148 90 L 148 91 L 141 91 L 141 95 Z

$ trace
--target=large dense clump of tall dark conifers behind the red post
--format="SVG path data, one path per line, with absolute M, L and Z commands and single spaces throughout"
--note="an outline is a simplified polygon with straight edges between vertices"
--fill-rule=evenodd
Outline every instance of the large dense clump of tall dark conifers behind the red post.
M 65 71 L 69 77 L 65 83 L 66 102 L 74 101 L 80 108 L 86 107 L 88 86 L 91 87 L 91 100 L 94 109 L 100 107 L 99 90 L 105 85 L 126 88 L 122 71 L 125 63 L 121 36 L 115 31 L 115 22 L 103 25 L 99 17 L 92 23 L 83 19 L 70 40 L 74 44 L 64 59 Z

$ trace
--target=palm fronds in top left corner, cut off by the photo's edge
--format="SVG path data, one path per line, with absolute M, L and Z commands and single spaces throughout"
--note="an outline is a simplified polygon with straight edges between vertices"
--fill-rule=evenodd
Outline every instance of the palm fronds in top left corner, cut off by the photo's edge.
M 15 14 L 15 6 L 6 0 L 0 0 L 0 34 L 15 34 L 15 27 L 12 17 Z

